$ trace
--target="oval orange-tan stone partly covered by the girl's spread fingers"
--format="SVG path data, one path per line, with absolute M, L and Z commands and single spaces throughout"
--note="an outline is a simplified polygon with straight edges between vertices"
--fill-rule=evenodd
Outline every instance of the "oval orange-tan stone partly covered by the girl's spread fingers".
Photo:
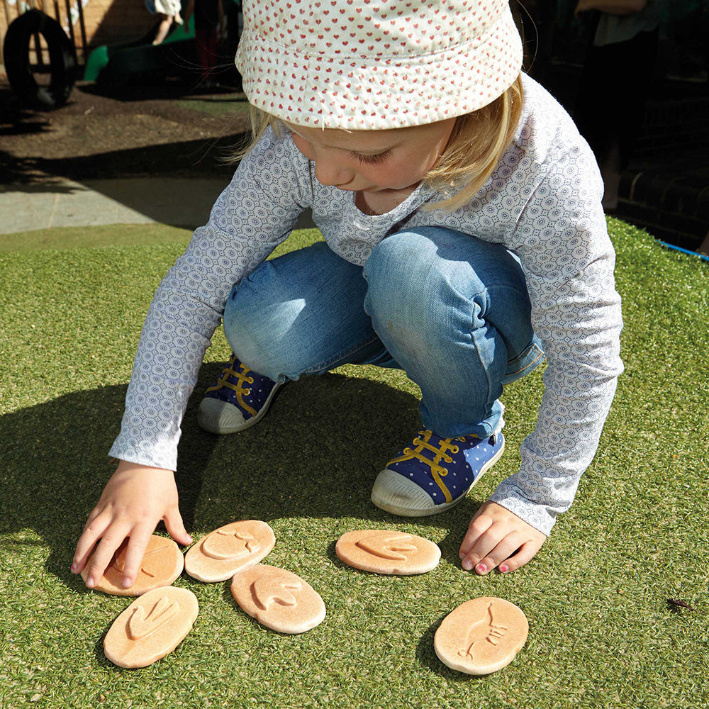
M 110 593 L 111 596 L 140 596 L 147 591 L 152 591 L 153 588 L 169 586 L 184 569 L 184 557 L 177 544 L 167 537 L 154 534 L 147 542 L 143 562 L 140 563 L 133 586 L 123 588 L 121 581 L 126 549 L 128 549 L 127 540 L 118 547 L 116 554 L 113 554 L 111 563 L 106 566 L 106 571 L 99 579 L 99 583 L 94 586 L 94 591 Z M 84 581 L 89 576 L 90 564 L 91 558 L 82 570 Z

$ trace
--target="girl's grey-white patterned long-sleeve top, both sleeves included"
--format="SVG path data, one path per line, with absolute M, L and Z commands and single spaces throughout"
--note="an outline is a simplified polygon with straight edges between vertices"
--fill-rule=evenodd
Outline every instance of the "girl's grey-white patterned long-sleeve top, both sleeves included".
M 312 208 L 335 253 L 359 265 L 394 230 L 445 226 L 503 244 L 522 263 L 547 356 L 545 392 L 520 470 L 491 499 L 549 534 L 596 453 L 623 371 L 622 321 L 596 161 L 557 101 L 532 79 L 523 84 L 513 142 L 475 198 L 452 212 L 423 209 L 440 194 L 419 186 L 392 211 L 364 215 L 352 192 L 316 181 L 287 130 L 265 133 L 155 293 L 110 454 L 175 469 L 182 415 L 228 295 L 303 210 Z

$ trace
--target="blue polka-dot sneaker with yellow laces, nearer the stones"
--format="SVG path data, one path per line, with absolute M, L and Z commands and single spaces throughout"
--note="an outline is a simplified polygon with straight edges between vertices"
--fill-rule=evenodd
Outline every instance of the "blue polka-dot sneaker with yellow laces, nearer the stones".
M 500 459 L 505 437 L 475 435 L 442 438 L 420 430 L 376 476 L 372 502 L 403 517 L 436 515 L 457 505 Z

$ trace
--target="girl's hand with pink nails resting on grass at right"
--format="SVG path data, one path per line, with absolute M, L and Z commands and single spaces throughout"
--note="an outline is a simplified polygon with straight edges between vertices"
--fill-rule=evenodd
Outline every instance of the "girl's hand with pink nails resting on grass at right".
M 487 574 L 498 567 L 506 573 L 524 566 L 546 540 L 510 510 L 487 501 L 470 520 L 459 557 L 466 571 Z

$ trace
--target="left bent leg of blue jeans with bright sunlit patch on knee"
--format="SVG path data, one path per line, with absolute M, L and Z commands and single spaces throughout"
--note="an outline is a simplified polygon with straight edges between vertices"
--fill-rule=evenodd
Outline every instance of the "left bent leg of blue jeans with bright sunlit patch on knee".
M 225 335 L 247 367 L 277 381 L 379 362 L 381 342 L 362 308 L 366 289 L 362 267 L 316 242 L 262 263 L 235 286 Z

